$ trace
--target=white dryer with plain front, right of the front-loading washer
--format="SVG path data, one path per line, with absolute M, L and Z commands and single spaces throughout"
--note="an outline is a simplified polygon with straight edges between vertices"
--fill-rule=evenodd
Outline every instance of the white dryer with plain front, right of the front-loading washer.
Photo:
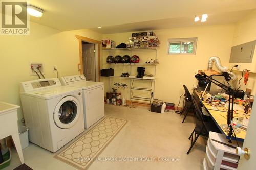
M 104 84 L 102 82 L 86 81 L 84 75 L 65 76 L 60 80 L 62 85 L 82 89 L 84 126 L 86 129 L 104 117 Z

